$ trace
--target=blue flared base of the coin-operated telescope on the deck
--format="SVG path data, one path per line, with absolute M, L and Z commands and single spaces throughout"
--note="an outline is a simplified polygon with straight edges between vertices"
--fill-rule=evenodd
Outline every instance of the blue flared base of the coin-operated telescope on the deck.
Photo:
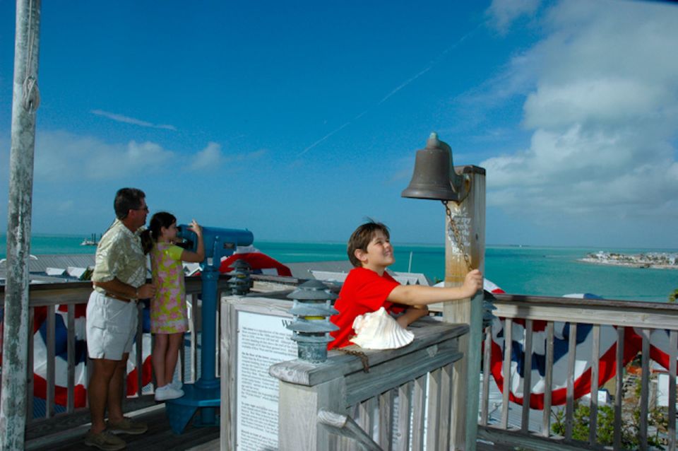
M 218 380 L 217 380 L 218 381 Z M 220 387 L 205 388 L 196 384 L 184 384 L 184 396 L 165 401 L 165 413 L 169 420 L 169 427 L 175 434 L 184 432 L 191 418 L 199 414 L 193 421 L 197 427 L 219 426 L 218 411 L 221 404 Z

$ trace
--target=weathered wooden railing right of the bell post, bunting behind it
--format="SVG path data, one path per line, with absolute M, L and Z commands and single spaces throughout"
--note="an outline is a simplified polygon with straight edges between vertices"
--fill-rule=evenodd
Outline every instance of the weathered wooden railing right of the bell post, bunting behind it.
M 670 368 L 668 372 L 669 390 L 668 407 L 665 410 L 665 435 L 666 443 L 662 446 L 665 449 L 676 449 L 676 358 L 678 349 L 678 305 L 667 303 L 645 303 L 615 300 L 595 300 L 595 299 L 572 299 L 572 298 L 546 298 L 536 296 L 518 296 L 518 295 L 496 295 L 494 304 L 497 310 L 494 314 L 500 317 L 501 334 L 504 339 L 504 349 L 502 349 L 503 361 L 501 364 L 501 375 L 504 377 L 501 389 L 501 401 L 495 405 L 489 406 L 489 398 L 492 394 L 493 386 L 496 382 L 490 375 L 490 364 L 492 361 L 490 349 L 492 347 L 492 333 L 495 337 L 499 324 L 495 322 L 494 330 L 487 329 L 484 341 L 484 370 L 483 383 L 480 401 L 480 429 L 479 438 L 492 441 L 493 443 L 502 443 L 512 446 L 520 446 L 526 449 L 539 450 L 561 450 L 561 449 L 601 449 L 604 445 L 611 445 L 615 450 L 626 448 L 646 450 L 653 444 L 653 438 L 657 435 L 648 435 L 648 423 L 650 423 L 650 354 L 658 350 L 665 353 L 666 362 Z M 546 322 L 536 323 L 537 321 Z M 543 382 L 545 387 L 554 387 L 554 329 L 559 330 L 569 323 L 567 341 L 567 365 L 566 365 L 566 402 L 563 406 L 552 405 L 552 389 L 543 391 L 542 409 L 530 409 L 528 402 L 520 404 L 509 400 L 510 387 L 516 386 L 515 381 L 511 380 L 511 355 L 512 346 L 516 343 L 523 346 L 525 351 L 523 368 L 533 368 L 533 353 L 537 350 L 545 350 L 545 374 Z M 514 327 L 520 324 L 521 327 Z M 534 324 L 539 324 L 540 328 L 545 325 L 545 341 L 537 343 L 533 339 Z M 582 329 L 591 324 L 590 337 L 591 352 L 588 355 L 580 355 L 576 352 L 577 348 L 577 327 Z M 515 336 L 517 331 L 520 336 Z M 597 392 L 599 387 L 599 378 L 602 377 L 600 368 L 601 352 L 601 331 L 607 336 L 607 344 L 612 336 L 612 345 L 616 349 L 609 348 L 609 356 L 613 356 L 614 364 L 614 423 L 612 431 L 612 443 L 601 443 L 599 433 L 601 433 L 601 424 L 598 414 L 601 406 L 598 403 Z M 633 335 L 631 335 L 633 334 Z M 581 334 L 580 334 L 581 335 Z M 629 338 L 635 337 L 634 344 L 629 346 Z M 662 344 L 655 342 L 657 336 L 663 337 Z M 580 336 L 581 340 L 581 336 Z M 638 343 L 641 343 L 638 346 Z M 624 348 L 626 347 L 626 350 Z M 650 352 L 650 346 L 653 346 Z M 655 348 L 655 346 L 659 346 Z M 622 392 L 624 389 L 635 390 L 636 387 L 624 387 L 624 375 L 626 373 L 623 362 L 629 361 L 629 352 L 634 354 L 636 348 L 640 347 L 641 370 L 639 380 L 639 403 L 636 406 L 636 418 L 634 414 L 629 414 L 629 406 L 622 403 Z M 496 354 L 496 352 L 495 352 Z M 626 354 L 626 356 L 625 356 Z M 608 356 L 608 357 L 609 357 Z M 624 356 L 626 357 L 624 359 Z M 496 357 L 496 356 L 495 356 Z M 496 360 L 496 359 L 495 359 Z M 576 361 L 590 362 L 590 396 L 588 418 L 582 418 L 578 410 L 578 402 L 575 399 L 574 380 L 576 374 Z M 607 359 L 609 362 L 609 358 Z M 524 372 L 523 381 L 520 385 L 522 399 L 529 399 L 530 387 L 533 387 L 534 380 L 530 379 L 530 371 Z M 508 377 L 506 377 L 508 375 Z M 516 401 L 519 401 L 516 399 Z M 535 404 L 533 402 L 533 404 Z M 538 404 L 538 403 L 537 403 Z M 490 408 L 495 412 L 494 418 Z M 501 411 L 501 416 L 497 414 Z M 511 416 L 511 411 L 516 415 Z M 607 408 L 609 412 L 609 407 Z M 518 415 L 520 412 L 520 415 Z M 556 414 L 559 412 L 559 414 Z M 579 416 L 577 416 L 579 414 Z M 512 421 L 509 421 L 511 416 Z M 530 428 L 530 418 L 532 424 L 540 424 L 536 428 Z M 559 421 L 560 429 L 564 429 L 561 435 L 554 434 L 554 418 Z M 579 418 L 577 421 L 576 418 Z M 535 419 L 537 421 L 535 421 Z M 609 418 L 607 420 L 609 422 Z M 564 424 L 563 424 L 564 423 Z M 575 428 L 580 427 L 581 423 L 588 426 L 588 437 L 581 437 L 573 433 Z M 609 423 L 606 425 L 609 429 Z M 629 430 L 630 429 L 630 430 Z M 634 441 L 629 443 L 629 433 Z M 635 438 L 634 438 L 635 436 Z M 656 440 L 655 440 L 656 441 Z

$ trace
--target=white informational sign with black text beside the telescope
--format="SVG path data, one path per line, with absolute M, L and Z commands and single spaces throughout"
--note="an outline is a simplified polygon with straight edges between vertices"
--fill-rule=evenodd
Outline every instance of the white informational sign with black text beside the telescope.
M 278 450 L 278 379 L 268 368 L 297 358 L 291 321 L 281 312 L 237 312 L 237 450 Z

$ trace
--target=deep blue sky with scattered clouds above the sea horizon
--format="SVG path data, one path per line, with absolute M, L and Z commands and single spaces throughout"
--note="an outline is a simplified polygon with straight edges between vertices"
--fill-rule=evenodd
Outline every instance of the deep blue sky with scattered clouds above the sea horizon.
M 443 207 L 400 197 L 437 131 L 487 170 L 488 244 L 678 248 L 677 43 L 655 2 L 45 1 L 32 230 L 99 233 L 133 186 L 255 240 L 369 216 L 442 244 Z

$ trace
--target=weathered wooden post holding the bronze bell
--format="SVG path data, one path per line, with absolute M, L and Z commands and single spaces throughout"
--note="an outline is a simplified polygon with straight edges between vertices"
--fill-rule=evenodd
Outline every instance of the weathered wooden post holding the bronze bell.
M 470 269 L 484 271 L 485 256 L 485 170 L 477 166 L 455 168 L 471 175 L 468 197 L 460 204 L 448 202 L 456 225 L 445 223 L 445 286 L 460 286 Z M 461 170 L 461 171 L 460 171 Z M 456 236 L 460 238 L 461 245 Z M 474 298 L 444 304 L 447 322 L 465 322 L 470 333 L 459 339 L 464 357 L 454 364 L 452 386 L 452 423 L 450 445 L 453 450 L 475 450 L 478 430 L 478 398 L 480 397 L 480 344 L 482 341 L 482 291 Z

